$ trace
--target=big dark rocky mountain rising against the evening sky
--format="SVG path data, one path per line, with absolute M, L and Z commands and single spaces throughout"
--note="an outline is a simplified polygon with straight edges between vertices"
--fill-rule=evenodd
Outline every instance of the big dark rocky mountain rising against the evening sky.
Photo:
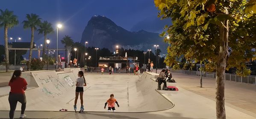
M 88 41 L 88 46 L 105 47 L 113 52 L 116 45 L 124 47 L 124 49 L 146 51 L 147 49 L 153 50 L 155 48 L 153 45 L 158 44 L 162 53 L 166 53 L 168 46 L 164 43 L 163 38 L 159 37 L 158 33 L 144 30 L 130 32 L 116 25 L 109 18 L 100 15 L 93 16 L 88 21 L 82 33 L 81 43 L 85 43 L 85 41 Z

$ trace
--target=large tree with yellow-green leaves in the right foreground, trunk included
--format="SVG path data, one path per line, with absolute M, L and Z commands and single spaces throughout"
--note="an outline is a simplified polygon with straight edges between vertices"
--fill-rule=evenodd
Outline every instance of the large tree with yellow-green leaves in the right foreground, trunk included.
M 190 61 L 209 61 L 216 69 L 216 117 L 226 119 L 224 75 L 230 67 L 247 75 L 244 62 L 255 55 L 255 13 L 248 11 L 247 0 L 154 0 L 159 17 L 171 18 L 165 26 L 172 44 L 168 47 L 166 64 L 176 64 L 184 55 Z M 254 10 L 256 0 L 250 0 Z M 164 36 L 165 32 L 161 36 Z

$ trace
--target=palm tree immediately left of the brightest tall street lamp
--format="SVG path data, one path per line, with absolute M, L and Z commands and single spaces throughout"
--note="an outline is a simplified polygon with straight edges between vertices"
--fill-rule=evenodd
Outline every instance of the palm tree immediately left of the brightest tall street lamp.
M 53 27 L 51 23 L 48 23 L 46 20 L 40 24 L 40 29 L 38 29 L 38 34 L 44 34 L 44 46 L 43 46 L 43 60 L 45 60 L 45 48 L 46 48 L 46 36 L 53 32 Z M 48 52 L 47 52 L 48 53 Z

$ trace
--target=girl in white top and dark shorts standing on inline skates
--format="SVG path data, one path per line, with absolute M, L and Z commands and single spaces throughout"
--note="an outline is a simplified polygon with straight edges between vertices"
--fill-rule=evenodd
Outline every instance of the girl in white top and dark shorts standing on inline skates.
M 75 112 L 77 112 L 77 99 L 78 99 L 78 95 L 80 94 L 80 101 L 81 101 L 81 108 L 80 108 L 80 112 L 82 112 L 84 110 L 84 106 L 83 106 L 83 87 L 86 86 L 86 81 L 85 81 L 85 77 L 84 77 L 84 73 L 82 71 L 78 72 L 78 77 L 77 78 L 77 84 L 76 84 L 76 98 L 75 98 L 75 104 L 74 104 L 74 110 Z

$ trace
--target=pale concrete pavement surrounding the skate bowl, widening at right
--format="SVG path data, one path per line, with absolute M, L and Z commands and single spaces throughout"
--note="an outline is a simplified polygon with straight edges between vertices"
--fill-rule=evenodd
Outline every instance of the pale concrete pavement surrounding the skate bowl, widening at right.
M 101 77 L 97 73 L 89 75 Z M 122 80 L 124 78 L 122 75 L 115 74 L 111 76 L 119 77 L 119 80 Z M 109 77 L 109 75 L 106 75 L 106 77 Z M 179 91 L 155 90 L 175 104 L 173 108 L 168 110 L 144 113 L 26 111 L 27 119 L 216 119 L 214 79 L 204 78 L 203 88 L 200 88 L 198 87 L 200 84 L 198 76 L 173 73 L 173 78 L 177 81 Z M 156 82 L 152 80 L 151 83 L 156 85 L 155 88 L 157 88 Z M 256 111 L 254 111 L 256 103 L 253 102 L 256 87 L 227 81 L 225 87 L 227 119 L 256 119 Z M 19 111 L 15 112 L 16 118 L 19 117 L 19 113 Z M 9 111 L 0 111 L 1 119 L 7 119 L 8 115 Z

